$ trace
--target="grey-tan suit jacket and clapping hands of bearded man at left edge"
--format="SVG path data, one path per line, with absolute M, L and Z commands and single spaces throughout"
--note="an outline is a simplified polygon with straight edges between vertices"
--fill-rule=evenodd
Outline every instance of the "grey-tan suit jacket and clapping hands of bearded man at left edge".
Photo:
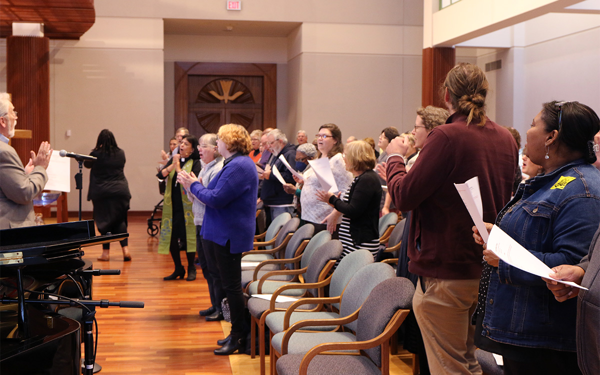
M 47 181 L 40 166 L 26 175 L 14 148 L 0 141 L 0 229 L 35 225 L 33 199 Z

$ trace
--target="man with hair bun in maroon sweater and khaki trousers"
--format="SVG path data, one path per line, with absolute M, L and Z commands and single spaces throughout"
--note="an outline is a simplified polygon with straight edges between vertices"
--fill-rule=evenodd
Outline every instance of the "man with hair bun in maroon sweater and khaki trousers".
M 406 140 L 389 144 L 388 190 L 400 211 L 412 211 L 409 271 L 419 277 L 413 309 L 431 373 L 481 374 L 470 317 L 482 248 L 473 244 L 473 221 L 454 184 L 478 176 L 484 221 L 493 222 L 511 198 L 518 150 L 508 130 L 485 116 L 488 82 L 480 68 L 455 66 L 442 89 L 450 117 L 430 131 L 410 172 Z

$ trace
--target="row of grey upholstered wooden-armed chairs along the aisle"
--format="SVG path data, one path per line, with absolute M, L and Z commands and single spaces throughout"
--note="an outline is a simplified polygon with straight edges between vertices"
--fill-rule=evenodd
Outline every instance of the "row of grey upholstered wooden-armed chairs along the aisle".
M 395 226 L 398 219 L 395 214 L 382 219 L 381 240 L 389 242 L 386 251 L 395 251 L 398 246 L 392 242 L 400 241 L 402 226 Z M 405 278 L 395 277 L 390 265 L 374 263 L 373 256 L 367 250 L 355 251 L 344 257 L 335 272 L 331 272 L 341 256 L 341 242 L 331 240 L 328 232 L 313 236 L 314 227 L 311 224 L 298 226 L 298 218 L 291 218 L 289 214 L 280 215 L 262 235 L 257 236 L 256 239 L 264 241 L 255 242 L 255 250 L 242 257 L 242 284 L 248 294 L 255 295 L 248 301 L 251 355 L 254 358 L 258 327 L 261 374 L 265 374 L 265 343 L 262 340 L 265 337 L 265 325 L 271 332 L 272 373 L 298 373 L 300 364 L 304 373 L 307 370 L 310 370 L 309 373 L 317 371 L 313 370 L 313 364 L 309 369 L 308 363 L 311 359 L 311 363 L 329 361 L 323 359 L 325 355 L 317 356 L 317 353 L 332 349 L 313 350 L 310 343 L 333 341 L 344 342 L 343 346 L 350 345 L 347 348 L 351 350 L 350 353 L 362 350 L 362 358 L 340 357 L 346 364 L 349 363 L 347 361 L 360 362 L 365 371 L 359 373 L 389 373 L 389 337 L 409 313 L 413 284 Z M 376 287 L 381 292 L 375 293 Z M 327 297 L 326 289 L 329 292 Z M 371 296 L 371 293 L 374 294 Z M 267 296 L 258 298 L 256 295 Z M 277 302 L 278 296 L 302 298 Z M 367 301 L 370 302 L 367 304 Z M 385 324 L 382 325 L 382 322 Z M 377 334 L 373 336 L 373 332 Z M 330 344 L 325 347 L 329 348 Z M 280 357 L 283 362 L 281 359 L 278 361 Z M 296 362 L 299 366 L 293 370 Z M 340 367 L 342 373 L 343 367 Z M 367 368 L 371 370 L 367 371 Z M 348 373 L 356 373 L 354 365 L 348 369 Z

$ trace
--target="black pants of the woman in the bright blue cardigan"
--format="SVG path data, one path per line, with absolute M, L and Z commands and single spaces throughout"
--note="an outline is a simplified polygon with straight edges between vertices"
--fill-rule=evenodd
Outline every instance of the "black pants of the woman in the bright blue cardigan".
M 220 303 L 227 297 L 231 313 L 231 333 L 236 337 L 245 335 L 244 291 L 242 290 L 242 254 L 230 253 L 231 242 L 225 246 L 203 240 L 206 262 L 213 277 L 215 298 Z M 213 267 L 212 265 L 216 265 Z

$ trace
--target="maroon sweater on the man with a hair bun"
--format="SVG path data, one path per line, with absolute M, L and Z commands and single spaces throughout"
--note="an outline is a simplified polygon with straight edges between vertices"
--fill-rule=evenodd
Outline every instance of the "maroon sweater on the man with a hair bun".
M 454 184 L 479 177 L 484 221 L 494 223 L 511 198 L 517 143 L 487 119 L 466 125 L 454 113 L 429 133 L 409 173 L 403 158 L 388 159 L 388 190 L 400 211 L 413 211 L 408 255 L 413 274 L 445 279 L 481 276 L 482 247 L 473 240 L 473 220 Z

